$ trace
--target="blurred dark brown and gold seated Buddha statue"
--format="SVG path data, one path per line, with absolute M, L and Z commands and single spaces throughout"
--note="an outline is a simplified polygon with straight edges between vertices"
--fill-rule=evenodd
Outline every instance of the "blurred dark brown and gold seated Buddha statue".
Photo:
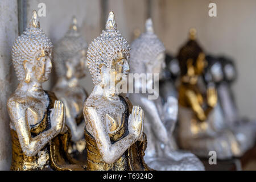
M 241 148 L 232 131 L 216 125 L 223 123 L 214 114 L 219 108 L 216 87 L 212 84 L 205 86 L 200 81 L 207 62 L 196 41 L 195 28 L 189 35 L 190 39 L 177 55 L 181 76 L 178 90 L 179 145 L 201 157 L 208 158 L 209 151 L 215 151 L 218 159 L 240 156 Z

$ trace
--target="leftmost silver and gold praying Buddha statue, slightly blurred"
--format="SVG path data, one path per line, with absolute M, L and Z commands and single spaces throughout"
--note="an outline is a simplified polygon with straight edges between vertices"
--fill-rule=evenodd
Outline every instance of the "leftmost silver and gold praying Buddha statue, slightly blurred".
M 12 60 L 18 88 L 7 101 L 13 159 L 11 170 L 83 170 L 68 154 L 65 106 L 43 90 L 52 68 L 52 43 L 33 11 L 29 26 L 14 42 Z

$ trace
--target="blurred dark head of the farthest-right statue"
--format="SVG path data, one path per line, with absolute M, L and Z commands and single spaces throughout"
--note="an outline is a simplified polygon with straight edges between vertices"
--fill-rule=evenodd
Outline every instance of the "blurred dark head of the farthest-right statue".
M 220 61 L 222 64 L 225 81 L 233 82 L 234 80 L 236 80 L 237 69 L 235 67 L 234 61 L 224 56 L 220 57 Z

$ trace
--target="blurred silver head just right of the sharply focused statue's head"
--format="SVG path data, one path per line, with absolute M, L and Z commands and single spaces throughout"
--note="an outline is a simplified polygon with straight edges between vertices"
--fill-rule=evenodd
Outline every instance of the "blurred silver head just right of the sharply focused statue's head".
M 165 48 L 154 34 L 152 20 L 146 20 L 146 32 L 131 44 L 132 73 L 161 73 L 165 67 Z

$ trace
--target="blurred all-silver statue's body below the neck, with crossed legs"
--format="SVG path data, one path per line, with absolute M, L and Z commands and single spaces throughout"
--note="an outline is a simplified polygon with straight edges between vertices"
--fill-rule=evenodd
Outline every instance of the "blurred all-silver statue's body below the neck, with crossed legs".
M 171 94 L 168 97 L 169 101 L 164 105 L 163 98 L 160 96 L 155 100 L 148 100 L 148 94 L 129 95 L 131 102 L 134 105 L 141 105 L 145 113 L 144 133 L 147 135 L 147 149 L 144 160 L 148 166 L 156 170 L 204 170 L 203 164 L 195 155 L 176 150 L 173 131 L 177 119 L 177 99 Z M 163 131 L 160 129 L 154 130 L 156 126 L 152 121 L 155 119 L 153 115 L 159 117 L 159 122 L 162 122 L 167 130 L 168 142 L 165 144 L 155 134 L 155 132 L 158 132 L 158 135 L 161 135 Z

